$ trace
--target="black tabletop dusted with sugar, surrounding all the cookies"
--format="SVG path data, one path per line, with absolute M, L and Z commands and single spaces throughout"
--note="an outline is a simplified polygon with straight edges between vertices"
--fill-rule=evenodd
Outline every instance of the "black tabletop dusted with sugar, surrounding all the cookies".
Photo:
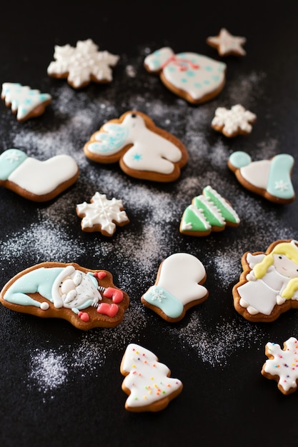
M 1 6 L 1 83 L 29 85 L 53 101 L 42 116 L 24 124 L 2 101 L 0 151 L 18 147 L 41 160 L 71 154 L 81 173 L 71 189 L 46 204 L 1 189 L 0 288 L 36 263 L 77 262 L 111 271 L 131 298 L 120 326 L 88 332 L 1 306 L 1 446 L 297 446 L 298 393 L 283 396 L 260 371 L 267 341 L 282 346 L 298 336 L 298 313 L 284 313 L 274 323 L 249 323 L 232 301 L 245 251 L 298 238 L 297 201 L 269 203 L 244 190 L 227 169 L 235 150 L 252 159 L 282 152 L 297 156 L 297 14 L 297 1 Z M 207 36 L 222 27 L 247 37 L 247 56 L 220 58 L 207 46 Z M 74 91 L 65 80 L 47 76 L 54 45 L 75 46 L 89 38 L 120 56 L 111 84 Z M 226 62 L 222 93 L 192 106 L 168 91 L 142 65 L 146 54 L 162 46 Z M 227 139 L 210 123 L 217 106 L 234 104 L 253 111 L 257 121 L 249 136 Z M 99 166 L 84 156 L 84 143 L 104 121 L 132 109 L 187 146 L 189 163 L 178 181 L 138 181 L 118 165 Z M 297 166 L 292 181 L 297 191 Z M 182 213 L 207 184 L 232 202 L 241 224 L 206 238 L 182 236 Z M 130 224 L 113 238 L 81 231 L 76 204 L 96 191 L 124 202 Z M 144 309 L 140 297 L 154 283 L 162 259 L 178 251 L 204 264 L 209 298 L 171 325 Z M 131 342 L 156 353 L 184 383 L 162 412 L 124 409 L 119 366 Z

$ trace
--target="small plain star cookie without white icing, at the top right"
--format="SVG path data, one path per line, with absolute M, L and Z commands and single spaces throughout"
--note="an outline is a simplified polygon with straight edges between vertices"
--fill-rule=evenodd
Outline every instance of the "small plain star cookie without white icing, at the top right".
M 242 48 L 247 39 L 242 36 L 233 36 L 222 28 L 218 36 L 207 37 L 207 44 L 213 46 L 219 52 L 219 56 L 245 56 L 247 53 Z

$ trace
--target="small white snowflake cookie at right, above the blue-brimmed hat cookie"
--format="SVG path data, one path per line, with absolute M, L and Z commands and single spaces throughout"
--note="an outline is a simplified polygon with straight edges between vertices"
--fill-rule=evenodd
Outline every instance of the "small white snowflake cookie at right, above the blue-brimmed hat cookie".
M 248 135 L 252 131 L 252 124 L 257 115 L 244 109 L 241 104 L 232 106 L 231 109 L 218 107 L 212 119 L 212 129 L 222 132 L 225 136 L 233 137 L 239 134 Z

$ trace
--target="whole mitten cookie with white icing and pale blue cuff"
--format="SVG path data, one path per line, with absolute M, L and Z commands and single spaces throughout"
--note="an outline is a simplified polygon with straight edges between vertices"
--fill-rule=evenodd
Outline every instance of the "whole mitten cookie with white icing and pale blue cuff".
M 141 302 L 164 320 L 182 320 L 186 311 L 205 301 L 209 292 L 202 286 L 207 275 L 201 261 L 189 253 L 174 253 L 159 266 L 157 279 Z

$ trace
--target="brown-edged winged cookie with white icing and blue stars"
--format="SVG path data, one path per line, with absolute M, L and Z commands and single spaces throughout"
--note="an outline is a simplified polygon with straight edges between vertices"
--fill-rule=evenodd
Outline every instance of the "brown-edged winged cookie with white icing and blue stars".
M 136 179 L 163 182 L 177 180 L 188 159 L 182 141 L 139 111 L 104 124 L 85 144 L 84 153 L 99 163 L 119 161 L 122 171 Z

